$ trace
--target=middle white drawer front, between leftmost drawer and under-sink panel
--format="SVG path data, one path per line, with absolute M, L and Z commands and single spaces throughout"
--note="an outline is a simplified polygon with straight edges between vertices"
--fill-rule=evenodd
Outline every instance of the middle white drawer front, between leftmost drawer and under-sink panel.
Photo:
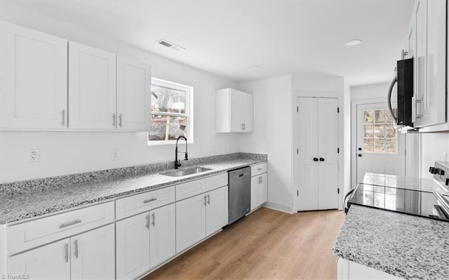
M 175 202 L 175 186 L 116 200 L 117 220 Z

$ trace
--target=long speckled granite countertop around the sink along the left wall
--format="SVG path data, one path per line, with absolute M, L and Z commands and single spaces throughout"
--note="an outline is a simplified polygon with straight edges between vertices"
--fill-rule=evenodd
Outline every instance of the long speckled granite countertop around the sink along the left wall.
M 223 173 L 235 168 L 265 162 L 262 159 L 232 159 L 215 163 L 201 164 L 211 168 L 199 174 L 182 177 L 161 175 L 160 172 L 115 178 L 100 182 L 83 182 L 74 185 L 61 185 L 48 189 L 36 188 L 29 192 L 0 192 L 0 225 L 33 218 L 48 213 L 84 206 L 99 201 L 115 199 L 128 194 L 138 194 L 153 189 L 160 189 L 187 180 L 198 179 L 208 175 Z M 29 184 L 28 184 L 29 185 Z

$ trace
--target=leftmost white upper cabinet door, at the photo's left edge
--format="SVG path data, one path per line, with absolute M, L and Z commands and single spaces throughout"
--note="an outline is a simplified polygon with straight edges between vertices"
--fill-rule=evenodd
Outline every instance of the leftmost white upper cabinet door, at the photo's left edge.
M 0 23 L 0 128 L 67 126 L 67 40 Z

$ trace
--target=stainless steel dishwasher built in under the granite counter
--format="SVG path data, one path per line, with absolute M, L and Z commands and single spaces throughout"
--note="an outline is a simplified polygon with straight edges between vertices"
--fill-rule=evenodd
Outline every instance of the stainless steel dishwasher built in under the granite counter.
M 251 168 L 249 166 L 228 172 L 229 225 L 250 213 Z

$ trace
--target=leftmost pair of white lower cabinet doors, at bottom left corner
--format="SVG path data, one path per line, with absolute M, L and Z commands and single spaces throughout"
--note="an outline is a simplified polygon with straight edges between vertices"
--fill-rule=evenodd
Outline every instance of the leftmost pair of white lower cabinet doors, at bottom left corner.
M 114 279 L 114 225 L 8 258 L 8 274 L 30 279 Z

